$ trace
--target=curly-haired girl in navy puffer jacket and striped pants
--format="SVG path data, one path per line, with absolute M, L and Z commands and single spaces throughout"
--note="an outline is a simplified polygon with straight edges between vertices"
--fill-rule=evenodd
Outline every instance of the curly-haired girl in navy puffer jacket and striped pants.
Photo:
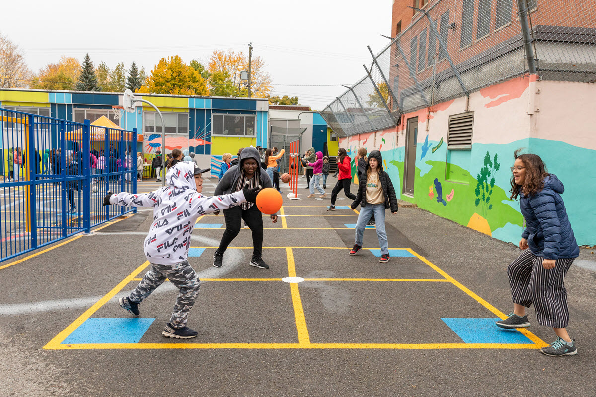
M 567 334 L 569 308 L 563 279 L 579 256 L 578 243 L 561 198 L 563 183 L 547 173 L 535 154 L 518 155 L 511 167 L 511 199 L 520 196 L 520 211 L 526 220 L 519 247 L 522 254 L 507 267 L 514 310 L 502 328 L 529 327 L 526 307 L 534 304 L 538 323 L 552 327 L 557 340 L 541 352 L 551 356 L 575 355 L 575 343 Z

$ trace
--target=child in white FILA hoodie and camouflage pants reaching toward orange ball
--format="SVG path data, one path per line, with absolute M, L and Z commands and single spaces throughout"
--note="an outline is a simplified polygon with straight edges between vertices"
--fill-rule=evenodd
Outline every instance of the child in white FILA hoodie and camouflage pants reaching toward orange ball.
M 151 270 L 126 298 L 120 298 L 122 308 L 139 315 L 138 304 L 169 279 L 180 293 L 162 335 L 190 339 L 197 332 L 186 326 L 188 312 L 193 307 L 200 288 L 197 273 L 187 261 L 190 235 L 198 217 L 219 210 L 252 202 L 260 190 L 244 188 L 221 196 L 203 196 L 201 170 L 194 162 L 179 162 L 167 171 L 167 185 L 150 193 L 112 193 L 104 198 L 105 205 L 122 207 L 153 207 L 153 224 L 143 244 Z

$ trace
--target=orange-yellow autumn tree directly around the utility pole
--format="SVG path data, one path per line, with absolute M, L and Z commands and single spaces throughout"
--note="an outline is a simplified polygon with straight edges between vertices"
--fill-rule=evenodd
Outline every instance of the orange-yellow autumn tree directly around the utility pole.
M 256 98 L 268 98 L 273 89 L 271 75 L 265 70 L 265 60 L 262 57 L 253 57 L 250 65 L 250 89 L 251 95 Z M 240 87 L 240 72 L 249 70 L 249 60 L 242 51 L 235 52 L 229 49 L 227 52 L 223 50 L 213 50 L 209 57 L 207 70 L 213 74 L 216 72 L 227 72 L 229 80 L 226 83 L 231 83 L 236 91 L 234 96 L 248 96 L 248 87 Z

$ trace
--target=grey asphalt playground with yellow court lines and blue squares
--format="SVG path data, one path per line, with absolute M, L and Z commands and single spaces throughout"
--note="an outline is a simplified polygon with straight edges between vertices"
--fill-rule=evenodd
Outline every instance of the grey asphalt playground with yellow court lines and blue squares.
M 547 357 L 539 348 L 554 334 L 533 310 L 529 329 L 494 326 L 511 311 L 506 268 L 519 249 L 400 208 L 387 211 L 388 263 L 378 261 L 374 228 L 350 257 L 358 211 L 339 199 L 327 212 L 329 199 L 306 199 L 300 182 L 302 200 L 284 198 L 276 224 L 263 218 L 269 270 L 249 266 L 249 229 L 213 268 L 224 217 L 197 220 L 188 258 L 202 281 L 188 322 L 195 339 L 161 335 L 177 294 L 169 282 L 138 318 L 117 304 L 148 270 L 150 210 L 0 262 L 0 395 L 594 395 L 589 250 L 566 279 L 579 354 Z

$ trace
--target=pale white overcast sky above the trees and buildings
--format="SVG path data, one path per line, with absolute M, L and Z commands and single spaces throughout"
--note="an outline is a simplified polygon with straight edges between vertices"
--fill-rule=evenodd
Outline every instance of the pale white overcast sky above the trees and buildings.
M 27 1 L 2 5 L 0 32 L 24 49 L 36 73 L 60 55 L 110 68 L 132 61 L 150 74 L 162 57 L 206 61 L 213 49 L 260 55 L 273 95 L 322 110 L 365 71 L 391 33 L 390 0 Z M 14 15 L 15 17 L 9 17 Z M 335 85 L 335 86 L 300 86 Z

